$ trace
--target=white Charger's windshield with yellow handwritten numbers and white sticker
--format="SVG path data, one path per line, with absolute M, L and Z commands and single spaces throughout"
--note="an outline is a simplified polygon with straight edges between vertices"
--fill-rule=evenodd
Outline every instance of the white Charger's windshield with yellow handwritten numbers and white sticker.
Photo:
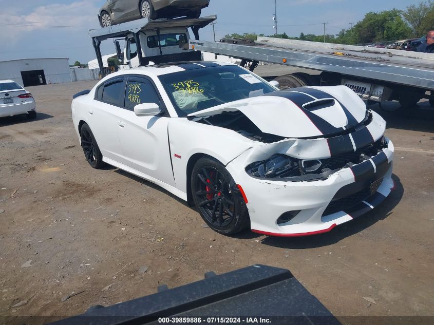
M 199 64 L 198 68 L 159 76 L 180 117 L 276 91 L 270 84 L 239 66 L 201 68 Z

